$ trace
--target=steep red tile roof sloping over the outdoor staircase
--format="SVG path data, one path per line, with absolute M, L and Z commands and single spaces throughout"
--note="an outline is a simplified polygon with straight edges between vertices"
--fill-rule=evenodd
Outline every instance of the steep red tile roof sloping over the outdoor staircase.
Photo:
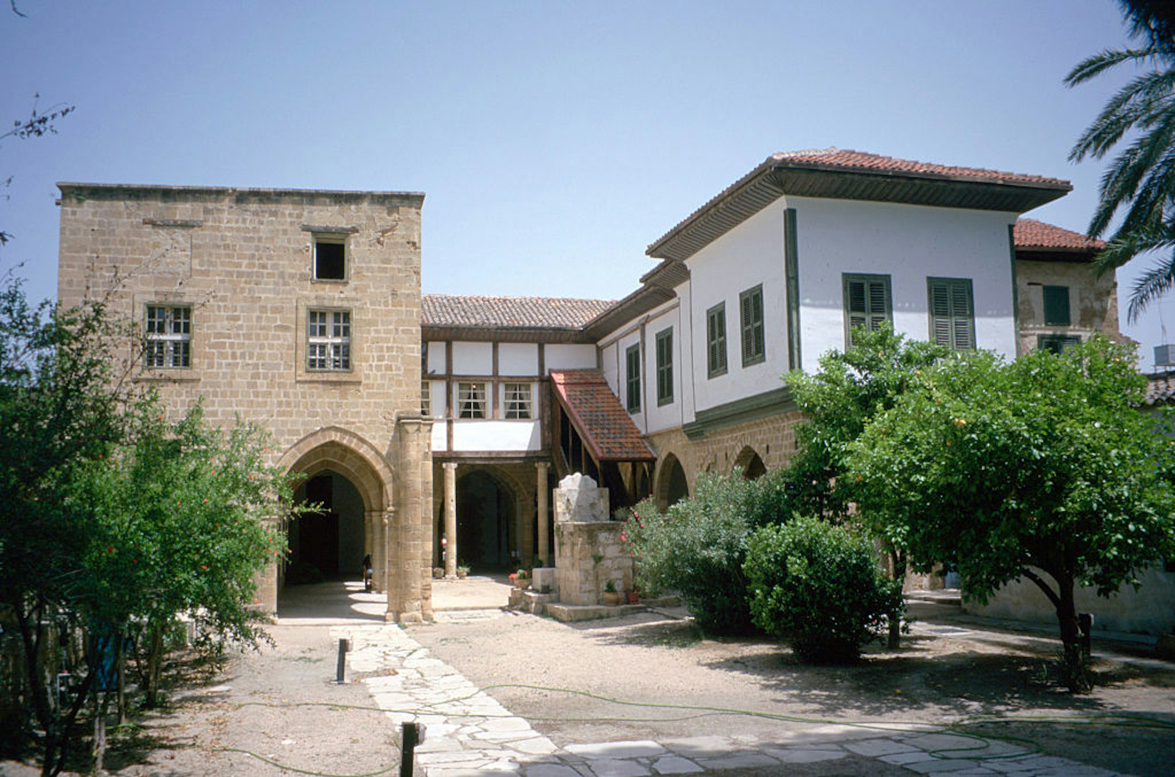
M 551 370 L 551 384 L 597 462 L 657 460 L 599 370 Z

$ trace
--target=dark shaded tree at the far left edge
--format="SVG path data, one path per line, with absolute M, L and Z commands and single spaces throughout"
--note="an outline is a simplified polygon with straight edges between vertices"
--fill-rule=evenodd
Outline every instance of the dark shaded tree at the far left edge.
M 119 341 L 102 303 L 33 306 L 19 280 L 0 282 L 0 609 L 20 632 L 47 772 L 60 769 L 81 704 L 58 714 L 41 663 L 47 624 L 74 628 L 87 588 L 78 574 L 86 527 L 62 504 L 79 468 L 122 437 Z

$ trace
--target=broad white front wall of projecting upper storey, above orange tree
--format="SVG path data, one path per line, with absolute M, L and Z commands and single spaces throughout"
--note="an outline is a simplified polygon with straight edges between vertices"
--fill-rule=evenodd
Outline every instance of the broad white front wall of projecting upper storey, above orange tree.
M 894 329 L 916 340 L 929 337 L 926 279 L 971 279 L 976 344 L 1015 355 L 1008 247 L 1015 214 L 810 197 L 768 210 L 785 205 L 797 216 L 805 370 L 845 348 L 841 273 L 889 275 Z

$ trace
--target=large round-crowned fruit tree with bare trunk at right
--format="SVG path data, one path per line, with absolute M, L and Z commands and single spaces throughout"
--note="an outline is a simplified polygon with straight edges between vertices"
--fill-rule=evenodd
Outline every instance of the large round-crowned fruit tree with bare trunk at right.
M 1021 577 L 1043 591 L 1074 690 L 1074 588 L 1109 596 L 1175 552 L 1175 442 L 1140 413 L 1144 383 L 1101 337 L 1012 363 L 976 351 L 922 370 L 850 446 L 845 477 L 889 542 L 956 564 L 979 602 Z

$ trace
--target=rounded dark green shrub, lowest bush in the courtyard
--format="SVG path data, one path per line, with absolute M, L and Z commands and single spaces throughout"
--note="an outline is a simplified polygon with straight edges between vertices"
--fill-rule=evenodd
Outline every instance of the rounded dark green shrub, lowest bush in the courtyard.
M 819 518 L 760 528 L 744 570 L 754 624 L 804 661 L 854 661 L 887 614 L 902 611 L 900 584 L 881 574 L 868 540 Z

